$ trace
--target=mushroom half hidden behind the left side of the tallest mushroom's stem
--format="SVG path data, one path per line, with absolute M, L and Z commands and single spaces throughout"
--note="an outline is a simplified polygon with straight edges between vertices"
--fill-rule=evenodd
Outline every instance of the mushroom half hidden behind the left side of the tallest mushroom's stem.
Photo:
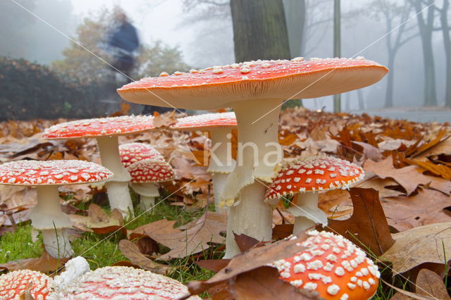
M 237 127 L 235 113 L 204 113 L 180 118 L 171 126 L 174 130 L 209 131 L 211 137 L 211 154 L 208 172 L 211 173 L 214 190 L 214 206 L 219 208 L 219 194 L 226 182 L 226 177 L 235 168 L 230 144 L 231 132 Z

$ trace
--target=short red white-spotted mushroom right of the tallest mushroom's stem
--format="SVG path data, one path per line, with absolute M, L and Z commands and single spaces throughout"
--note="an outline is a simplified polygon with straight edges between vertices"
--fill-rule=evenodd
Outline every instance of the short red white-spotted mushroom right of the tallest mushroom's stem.
M 318 208 L 318 192 L 347 189 L 364 178 L 364 170 L 354 163 L 333 156 L 309 156 L 285 161 L 266 192 L 266 201 L 295 194 L 287 211 L 295 215 L 293 235 L 313 227 L 327 225 L 326 213 Z

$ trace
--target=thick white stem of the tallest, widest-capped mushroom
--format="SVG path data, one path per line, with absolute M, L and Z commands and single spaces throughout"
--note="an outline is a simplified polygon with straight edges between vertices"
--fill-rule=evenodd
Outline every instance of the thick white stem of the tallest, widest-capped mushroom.
M 237 164 L 223 187 L 221 204 L 231 206 L 238 196 L 239 201 L 229 211 L 226 258 L 240 253 L 233 232 L 271 240 L 272 209 L 264 202 L 264 182 L 271 182 L 283 158 L 278 144 L 280 102 L 260 99 L 232 104 L 238 125 Z

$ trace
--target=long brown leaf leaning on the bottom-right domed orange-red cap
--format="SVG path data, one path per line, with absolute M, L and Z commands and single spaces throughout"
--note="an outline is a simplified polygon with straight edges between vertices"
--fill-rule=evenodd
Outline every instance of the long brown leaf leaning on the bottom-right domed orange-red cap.
M 304 234 L 295 239 L 284 239 L 238 254 L 230 260 L 226 268 L 220 270 L 209 280 L 188 282 L 187 287 L 192 294 L 200 294 L 237 275 L 268 265 L 268 263 L 273 263 L 273 261 L 277 261 L 278 259 L 295 255 L 305 249 L 301 246 L 300 242 L 306 239 L 306 237 L 307 235 Z

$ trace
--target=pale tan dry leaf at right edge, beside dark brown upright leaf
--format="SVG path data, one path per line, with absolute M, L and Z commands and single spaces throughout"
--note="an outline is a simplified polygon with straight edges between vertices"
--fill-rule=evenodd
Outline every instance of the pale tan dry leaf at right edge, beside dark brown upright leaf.
M 395 244 L 381 260 L 393 264 L 393 273 L 404 273 L 421 263 L 445 265 L 451 253 L 451 222 L 415 227 L 393 235 Z M 446 262 L 447 263 L 447 262 Z

